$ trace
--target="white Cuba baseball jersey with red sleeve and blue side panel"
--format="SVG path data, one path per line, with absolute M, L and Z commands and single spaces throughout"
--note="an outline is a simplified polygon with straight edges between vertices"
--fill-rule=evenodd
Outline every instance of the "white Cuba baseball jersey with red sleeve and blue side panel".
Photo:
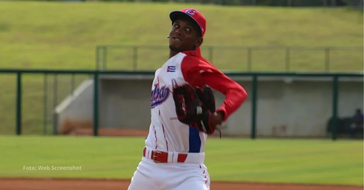
M 207 134 L 177 119 L 173 84 L 209 85 L 225 94 L 217 111 L 225 120 L 246 99 L 245 90 L 217 70 L 195 51 L 177 53 L 155 72 L 151 89 L 151 124 L 146 146 L 159 151 L 199 153 L 205 149 Z

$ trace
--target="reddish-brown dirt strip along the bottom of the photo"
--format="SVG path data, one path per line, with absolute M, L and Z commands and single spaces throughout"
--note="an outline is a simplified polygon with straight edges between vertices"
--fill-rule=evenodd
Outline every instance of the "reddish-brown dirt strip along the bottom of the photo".
M 0 190 L 127 190 L 130 180 L 0 178 Z M 212 182 L 211 190 L 363 190 L 360 186 Z

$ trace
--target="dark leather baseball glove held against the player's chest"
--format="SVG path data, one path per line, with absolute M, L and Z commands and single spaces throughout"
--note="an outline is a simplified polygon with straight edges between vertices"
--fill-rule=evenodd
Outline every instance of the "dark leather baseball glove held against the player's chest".
M 174 87 L 173 100 L 179 121 L 207 134 L 214 133 L 215 128 L 209 124 L 209 118 L 215 112 L 215 98 L 210 87 L 194 89 L 188 83 Z

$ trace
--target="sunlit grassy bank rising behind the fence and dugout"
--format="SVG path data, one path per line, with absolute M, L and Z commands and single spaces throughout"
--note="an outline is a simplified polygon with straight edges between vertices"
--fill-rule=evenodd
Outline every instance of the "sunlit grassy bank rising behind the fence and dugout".
M 207 18 L 203 45 L 363 45 L 363 13 L 349 8 L 0 1 L 0 68 L 94 69 L 96 45 L 167 47 L 169 12 L 184 7 L 198 8 Z M 167 48 L 140 49 L 138 68 L 158 68 L 167 54 Z M 246 50 L 214 50 L 213 63 L 219 69 L 246 70 L 246 57 Z M 132 51 L 109 49 L 107 60 L 110 69 L 131 69 Z M 360 49 L 332 51 L 330 60 L 336 71 L 363 70 Z M 284 70 L 284 61 L 284 50 L 252 52 L 253 70 Z M 293 71 L 322 70 L 324 51 L 293 50 L 290 62 Z M 0 134 L 15 133 L 15 80 L 15 75 L 0 74 Z M 54 108 L 52 80 L 48 76 L 48 123 Z M 56 104 L 71 92 L 70 80 L 58 76 Z M 41 134 L 43 76 L 27 74 L 23 82 L 24 133 Z

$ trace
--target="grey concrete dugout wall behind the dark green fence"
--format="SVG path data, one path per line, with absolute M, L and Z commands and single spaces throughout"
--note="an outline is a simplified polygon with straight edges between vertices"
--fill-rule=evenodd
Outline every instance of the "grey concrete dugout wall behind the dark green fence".
M 227 120 L 227 129 L 222 130 L 222 134 L 248 136 L 251 131 L 252 96 L 249 95 L 252 94 L 252 77 L 232 78 L 245 88 L 248 99 Z M 100 76 L 100 127 L 148 129 L 152 81 L 153 76 L 145 75 Z M 84 92 L 92 93 L 92 85 L 88 86 L 90 89 Z M 327 121 L 332 116 L 332 86 L 332 77 L 259 77 L 257 136 L 327 136 Z M 362 78 L 340 77 L 339 117 L 350 117 L 355 109 L 363 109 L 363 96 Z M 215 98 L 217 106 L 223 102 L 222 94 L 215 92 Z M 70 106 L 59 109 L 58 126 L 62 126 L 65 120 L 77 121 L 78 113 L 82 120 L 89 115 L 88 119 L 92 121 L 92 114 L 82 114 L 92 109 L 92 100 L 88 100 L 90 108 L 74 106 L 77 110 L 73 112 Z M 82 98 L 73 98 L 73 101 L 82 101 Z

